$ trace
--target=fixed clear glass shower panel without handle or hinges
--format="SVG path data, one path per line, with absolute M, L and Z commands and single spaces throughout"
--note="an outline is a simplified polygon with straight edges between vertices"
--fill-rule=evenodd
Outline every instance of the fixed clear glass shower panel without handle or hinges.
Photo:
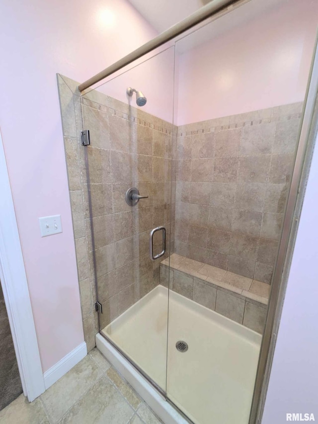
M 194 423 L 248 423 L 317 16 L 255 0 L 176 42 L 167 397 Z

